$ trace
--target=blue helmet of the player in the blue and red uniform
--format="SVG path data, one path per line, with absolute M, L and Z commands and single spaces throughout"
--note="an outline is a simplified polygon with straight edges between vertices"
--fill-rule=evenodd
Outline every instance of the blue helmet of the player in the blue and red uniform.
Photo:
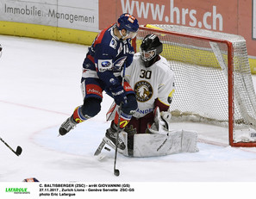
M 134 16 L 131 16 L 128 13 L 124 13 L 117 20 L 117 28 L 120 34 L 122 29 L 126 29 L 127 34 L 126 35 L 121 34 L 122 38 L 128 37 L 128 38 L 134 39 L 139 29 L 139 23 Z

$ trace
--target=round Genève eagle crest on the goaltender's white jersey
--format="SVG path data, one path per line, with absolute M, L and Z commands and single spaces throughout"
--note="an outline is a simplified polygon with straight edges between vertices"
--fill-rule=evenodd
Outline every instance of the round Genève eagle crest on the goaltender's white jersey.
M 134 91 L 136 93 L 136 99 L 140 103 L 147 102 L 153 96 L 152 85 L 147 81 L 140 81 L 134 85 Z

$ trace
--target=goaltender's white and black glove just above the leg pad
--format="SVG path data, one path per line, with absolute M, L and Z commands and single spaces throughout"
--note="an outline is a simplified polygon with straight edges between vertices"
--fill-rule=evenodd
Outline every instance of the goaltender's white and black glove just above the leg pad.
M 168 111 L 160 112 L 159 107 L 154 109 L 153 124 L 147 124 L 147 128 L 152 134 L 168 134 L 171 126 L 172 114 Z

